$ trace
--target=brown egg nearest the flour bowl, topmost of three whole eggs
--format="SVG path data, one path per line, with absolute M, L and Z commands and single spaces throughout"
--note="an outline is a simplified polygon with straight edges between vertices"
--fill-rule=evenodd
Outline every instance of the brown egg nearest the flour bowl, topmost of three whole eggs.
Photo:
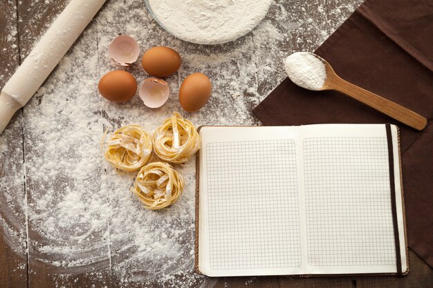
M 182 59 L 172 48 L 156 46 L 142 55 L 141 64 L 150 75 L 167 77 L 181 67 Z

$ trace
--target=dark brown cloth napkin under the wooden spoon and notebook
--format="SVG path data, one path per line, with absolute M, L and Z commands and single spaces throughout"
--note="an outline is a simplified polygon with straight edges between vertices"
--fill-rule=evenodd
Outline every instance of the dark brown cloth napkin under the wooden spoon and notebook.
M 343 79 L 427 117 L 427 127 L 416 131 L 347 96 L 305 90 L 288 78 L 252 112 L 265 125 L 398 125 L 409 247 L 433 267 L 433 1 L 367 0 L 315 53 Z

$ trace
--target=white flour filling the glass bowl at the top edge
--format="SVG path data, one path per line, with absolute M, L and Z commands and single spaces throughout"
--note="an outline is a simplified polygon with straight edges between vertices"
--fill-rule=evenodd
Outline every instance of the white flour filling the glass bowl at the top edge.
M 149 0 L 167 31 L 196 44 L 221 44 L 237 39 L 264 18 L 270 0 Z

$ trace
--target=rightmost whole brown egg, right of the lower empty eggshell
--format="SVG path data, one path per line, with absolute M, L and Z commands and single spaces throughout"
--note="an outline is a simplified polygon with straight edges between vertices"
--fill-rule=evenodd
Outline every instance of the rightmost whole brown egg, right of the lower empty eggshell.
M 179 102 L 187 112 L 199 111 L 208 102 L 212 84 L 208 76 L 194 73 L 183 80 L 179 89 Z

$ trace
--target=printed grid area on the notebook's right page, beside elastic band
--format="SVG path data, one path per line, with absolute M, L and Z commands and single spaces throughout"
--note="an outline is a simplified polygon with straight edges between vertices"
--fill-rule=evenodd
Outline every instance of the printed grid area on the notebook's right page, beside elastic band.
M 308 263 L 396 265 L 387 138 L 307 138 Z

